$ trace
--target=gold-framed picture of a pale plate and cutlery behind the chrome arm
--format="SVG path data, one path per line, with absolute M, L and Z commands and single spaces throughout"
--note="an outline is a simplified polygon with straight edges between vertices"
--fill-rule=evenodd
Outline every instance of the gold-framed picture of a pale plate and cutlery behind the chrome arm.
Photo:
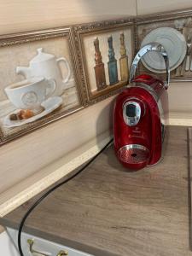
M 158 38 L 158 42 L 170 49 L 171 81 L 192 81 L 191 10 L 141 16 L 136 19 L 136 26 L 137 49 L 141 48 L 143 42 Z M 149 56 L 143 64 L 140 63 L 140 72 L 155 73 L 157 61 Z M 161 76 L 164 77 L 163 74 Z

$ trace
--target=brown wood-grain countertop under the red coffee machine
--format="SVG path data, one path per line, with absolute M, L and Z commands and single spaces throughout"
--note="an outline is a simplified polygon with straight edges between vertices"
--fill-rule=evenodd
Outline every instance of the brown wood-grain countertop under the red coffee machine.
M 126 172 L 107 148 L 45 199 L 25 230 L 100 256 L 192 255 L 188 172 L 186 127 L 171 126 L 164 159 L 140 172 Z M 33 201 L 0 223 L 18 227 Z

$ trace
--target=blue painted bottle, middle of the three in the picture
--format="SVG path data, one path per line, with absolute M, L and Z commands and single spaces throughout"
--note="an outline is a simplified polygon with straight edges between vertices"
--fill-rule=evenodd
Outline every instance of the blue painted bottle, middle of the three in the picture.
M 112 36 L 108 37 L 108 77 L 110 85 L 117 84 L 119 82 L 117 60 L 114 56 Z

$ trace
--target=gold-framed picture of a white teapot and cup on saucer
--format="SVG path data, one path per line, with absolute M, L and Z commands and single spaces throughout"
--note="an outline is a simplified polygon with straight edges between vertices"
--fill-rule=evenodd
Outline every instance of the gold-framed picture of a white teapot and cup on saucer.
M 72 29 L 0 37 L 0 144 L 83 108 Z

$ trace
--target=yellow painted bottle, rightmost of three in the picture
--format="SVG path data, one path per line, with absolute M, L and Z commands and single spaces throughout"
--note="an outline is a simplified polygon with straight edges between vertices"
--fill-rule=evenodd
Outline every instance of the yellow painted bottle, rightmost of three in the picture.
M 128 66 L 128 56 L 126 55 L 126 48 L 125 48 L 125 35 L 124 33 L 120 34 L 120 59 L 119 59 L 119 66 L 120 66 L 120 77 L 122 81 L 129 80 L 129 66 Z

